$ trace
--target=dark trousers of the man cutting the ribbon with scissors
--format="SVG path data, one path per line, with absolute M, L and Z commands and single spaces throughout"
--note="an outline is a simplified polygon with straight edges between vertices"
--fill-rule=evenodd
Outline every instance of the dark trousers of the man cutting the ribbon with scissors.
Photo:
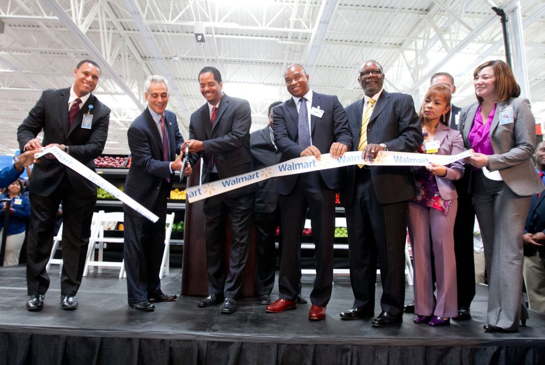
M 238 296 L 250 247 L 253 193 L 236 198 L 219 194 L 204 201 L 208 291 L 228 298 Z M 225 235 L 231 220 L 229 273 L 225 272 Z

